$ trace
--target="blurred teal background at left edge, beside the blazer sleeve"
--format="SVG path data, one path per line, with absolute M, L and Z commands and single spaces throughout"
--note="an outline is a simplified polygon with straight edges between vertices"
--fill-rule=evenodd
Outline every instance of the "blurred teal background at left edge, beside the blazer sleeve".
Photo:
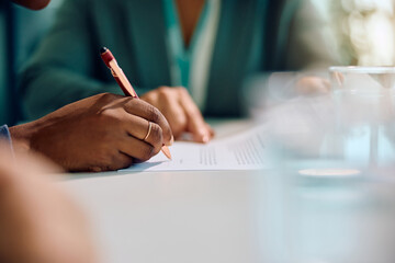
M 18 98 L 18 72 L 49 30 L 64 0 L 30 11 L 0 0 L 0 123 L 9 126 L 23 121 Z

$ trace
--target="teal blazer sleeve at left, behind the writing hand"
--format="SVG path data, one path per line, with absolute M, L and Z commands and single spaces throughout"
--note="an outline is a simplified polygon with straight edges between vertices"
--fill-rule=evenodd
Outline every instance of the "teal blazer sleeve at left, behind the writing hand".
M 92 43 L 88 4 L 88 0 L 64 1 L 55 24 L 22 71 L 19 87 L 27 118 L 38 118 L 93 94 L 122 93 L 115 82 L 92 77 L 98 68 L 92 57 L 100 57 L 99 44 Z

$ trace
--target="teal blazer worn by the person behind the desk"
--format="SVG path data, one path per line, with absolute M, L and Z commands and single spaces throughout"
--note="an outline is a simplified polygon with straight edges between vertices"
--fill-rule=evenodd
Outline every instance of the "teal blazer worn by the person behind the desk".
M 210 69 L 206 116 L 239 116 L 245 80 L 296 70 L 287 62 L 297 0 L 226 0 Z M 99 49 L 109 47 L 137 93 L 170 85 L 161 0 L 66 0 L 21 75 L 30 118 L 101 92 L 121 93 Z

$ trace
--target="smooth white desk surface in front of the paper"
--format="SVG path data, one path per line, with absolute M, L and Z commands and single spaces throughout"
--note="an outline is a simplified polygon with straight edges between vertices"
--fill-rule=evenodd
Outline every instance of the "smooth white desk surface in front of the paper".
M 221 124 L 218 136 L 224 127 L 245 123 Z M 395 262 L 395 183 L 282 173 L 104 173 L 64 184 L 111 263 Z

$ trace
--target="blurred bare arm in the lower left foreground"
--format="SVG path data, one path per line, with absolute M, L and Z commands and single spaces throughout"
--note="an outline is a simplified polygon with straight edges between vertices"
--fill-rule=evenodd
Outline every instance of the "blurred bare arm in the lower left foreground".
M 98 263 L 83 213 L 37 157 L 15 160 L 0 144 L 0 262 Z

